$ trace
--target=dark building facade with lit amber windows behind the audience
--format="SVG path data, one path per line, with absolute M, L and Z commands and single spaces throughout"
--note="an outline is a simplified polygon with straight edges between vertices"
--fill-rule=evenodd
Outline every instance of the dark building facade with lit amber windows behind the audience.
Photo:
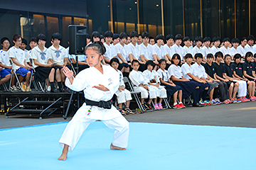
M 221 39 L 256 35 L 256 0 L 10 0 L 0 6 L 0 38 L 15 33 L 26 40 L 59 32 L 68 46 L 68 25 L 87 26 L 87 33 L 138 33 Z

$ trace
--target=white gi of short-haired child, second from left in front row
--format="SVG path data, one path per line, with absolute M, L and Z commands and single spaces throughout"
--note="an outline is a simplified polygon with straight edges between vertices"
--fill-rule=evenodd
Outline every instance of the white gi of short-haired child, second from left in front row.
M 149 86 L 148 79 L 144 78 L 144 75 L 140 71 L 135 71 L 134 69 L 129 74 L 129 79 L 132 82 L 132 85 L 134 86 L 134 91 L 140 92 L 142 95 L 142 98 L 156 98 L 156 89 Z M 147 91 L 144 87 L 139 86 L 139 84 L 146 84 L 149 86 L 149 91 Z

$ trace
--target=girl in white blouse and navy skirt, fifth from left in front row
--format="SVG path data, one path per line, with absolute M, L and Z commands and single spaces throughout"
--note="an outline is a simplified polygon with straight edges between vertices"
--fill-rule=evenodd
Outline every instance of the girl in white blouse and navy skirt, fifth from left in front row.
M 181 71 L 181 57 L 178 54 L 174 54 L 171 59 L 171 66 L 168 69 L 171 80 L 174 81 L 174 84 L 181 86 L 182 88 L 182 98 L 186 98 L 192 94 L 193 98 L 193 107 L 201 107 L 199 103 L 200 89 L 198 84 L 195 81 L 190 81 L 185 79 Z

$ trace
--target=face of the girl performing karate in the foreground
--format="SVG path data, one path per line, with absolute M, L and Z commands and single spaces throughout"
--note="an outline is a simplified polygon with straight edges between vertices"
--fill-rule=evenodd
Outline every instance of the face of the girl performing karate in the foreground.
M 86 62 L 90 67 L 99 66 L 100 61 L 103 59 L 103 56 L 100 55 L 97 51 L 92 50 L 92 48 L 87 48 L 85 54 Z

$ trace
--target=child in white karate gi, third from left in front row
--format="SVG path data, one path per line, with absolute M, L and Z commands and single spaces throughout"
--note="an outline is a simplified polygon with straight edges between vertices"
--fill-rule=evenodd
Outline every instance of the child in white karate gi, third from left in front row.
M 161 109 L 163 106 L 161 102 L 167 97 L 166 89 L 164 86 L 160 86 L 159 74 L 153 70 L 155 64 L 152 60 L 146 61 L 146 70 L 143 72 L 144 77 L 148 79 L 149 85 L 156 90 L 156 96 L 159 97 L 159 103 L 157 103 L 157 98 L 154 98 L 154 107 L 156 109 Z

